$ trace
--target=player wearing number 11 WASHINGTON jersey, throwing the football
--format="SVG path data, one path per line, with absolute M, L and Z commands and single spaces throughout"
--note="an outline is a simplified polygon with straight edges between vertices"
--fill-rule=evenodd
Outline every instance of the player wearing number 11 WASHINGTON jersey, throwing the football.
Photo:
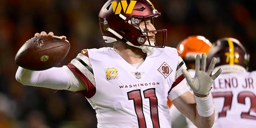
M 196 126 L 210 128 L 210 88 L 222 70 L 211 76 L 216 58 L 206 72 L 206 54 L 202 60 L 198 55 L 196 77 L 191 78 L 177 50 L 165 47 L 167 30 L 153 26 L 158 16 L 149 0 L 108 0 L 98 17 L 103 38 L 113 48 L 84 49 L 61 68 L 19 67 L 16 79 L 24 85 L 80 92 L 96 111 L 98 128 L 171 128 L 167 97 Z M 156 33 L 163 38 L 160 43 Z M 35 34 L 40 35 L 46 32 Z

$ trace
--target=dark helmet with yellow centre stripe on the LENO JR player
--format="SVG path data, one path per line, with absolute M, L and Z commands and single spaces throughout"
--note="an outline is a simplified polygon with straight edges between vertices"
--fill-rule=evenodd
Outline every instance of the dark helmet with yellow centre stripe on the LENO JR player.
M 215 57 L 215 71 L 222 68 L 222 73 L 245 72 L 248 70 L 250 55 L 246 49 L 235 38 L 221 38 L 214 42 L 206 59 L 207 65 Z

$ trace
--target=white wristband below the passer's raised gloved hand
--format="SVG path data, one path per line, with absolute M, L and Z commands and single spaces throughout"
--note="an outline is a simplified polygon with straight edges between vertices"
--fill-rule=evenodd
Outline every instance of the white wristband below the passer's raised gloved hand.
M 212 93 L 209 93 L 209 96 L 200 98 L 195 96 L 196 101 L 196 110 L 200 116 L 209 117 L 214 113 L 214 102 L 212 98 Z

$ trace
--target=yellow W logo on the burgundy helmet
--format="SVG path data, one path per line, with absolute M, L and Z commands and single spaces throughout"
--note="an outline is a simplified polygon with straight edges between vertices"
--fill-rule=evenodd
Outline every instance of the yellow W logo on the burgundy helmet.
M 120 14 L 122 9 L 124 10 L 124 13 L 131 14 L 136 2 L 137 1 L 135 0 L 130 0 L 130 4 L 128 5 L 127 0 L 121 0 L 118 4 L 116 1 L 111 2 L 111 4 L 115 14 Z

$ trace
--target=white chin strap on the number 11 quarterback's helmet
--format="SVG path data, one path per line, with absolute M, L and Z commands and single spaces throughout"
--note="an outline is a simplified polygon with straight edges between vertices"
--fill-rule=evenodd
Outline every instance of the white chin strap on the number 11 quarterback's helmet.
M 120 34 L 118 34 L 117 32 L 115 32 L 114 30 L 112 30 L 111 28 L 107 28 L 107 30 L 109 32 L 111 32 L 112 34 L 116 35 L 118 38 L 120 38 L 122 40 L 122 36 Z M 103 37 L 104 38 L 104 37 Z M 108 38 L 109 39 L 109 38 Z M 113 40 L 114 41 L 117 41 L 117 40 Z M 106 42 L 106 41 L 105 41 Z M 107 41 L 107 42 L 110 42 L 110 41 Z M 131 42 L 127 41 L 126 44 L 130 45 L 130 46 L 134 46 L 136 48 L 140 48 L 142 49 L 142 52 L 146 53 L 146 52 L 152 52 L 154 50 L 154 47 L 150 47 L 150 46 L 144 46 L 144 45 L 141 45 L 141 46 L 135 46 L 133 45 Z M 146 41 L 145 44 L 148 44 L 149 45 L 149 42 Z M 154 44 L 154 42 L 150 42 L 150 45 L 151 44 Z

